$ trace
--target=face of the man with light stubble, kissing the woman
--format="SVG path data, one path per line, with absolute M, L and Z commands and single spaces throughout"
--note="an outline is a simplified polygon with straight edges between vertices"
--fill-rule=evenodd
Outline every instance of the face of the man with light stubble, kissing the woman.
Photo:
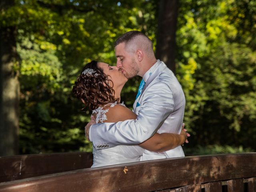
M 116 66 L 121 70 L 124 76 L 128 79 L 136 76 L 139 72 L 138 64 L 136 63 L 135 53 L 128 52 L 125 44 L 121 43 L 115 47 Z

